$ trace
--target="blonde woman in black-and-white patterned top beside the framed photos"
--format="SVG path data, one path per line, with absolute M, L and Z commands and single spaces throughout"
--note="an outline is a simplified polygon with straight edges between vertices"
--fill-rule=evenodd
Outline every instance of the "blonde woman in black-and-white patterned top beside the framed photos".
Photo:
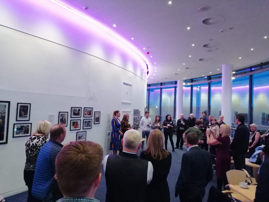
M 39 200 L 32 196 L 32 186 L 34 181 L 34 171 L 36 169 L 36 160 L 41 147 L 49 141 L 51 123 L 48 121 L 39 121 L 36 132 L 31 135 L 25 144 L 26 162 L 23 172 L 25 184 L 28 187 L 27 202 L 37 202 Z

